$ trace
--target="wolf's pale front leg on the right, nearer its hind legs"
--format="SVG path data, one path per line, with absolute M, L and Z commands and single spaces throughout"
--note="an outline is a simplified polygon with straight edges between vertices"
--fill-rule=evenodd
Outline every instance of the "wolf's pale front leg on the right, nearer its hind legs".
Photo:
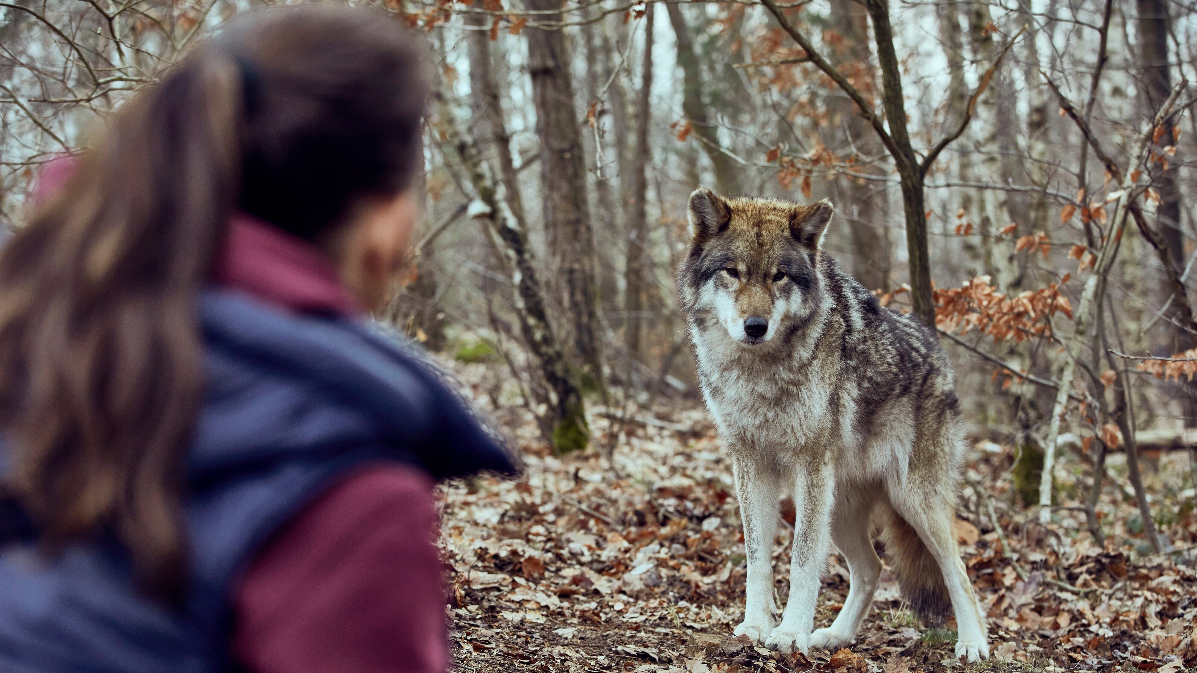
M 827 563 L 831 540 L 831 514 L 834 507 L 836 480 L 827 465 L 800 468 L 794 484 L 794 550 L 790 556 L 790 599 L 782 623 L 773 629 L 766 645 L 791 654 L 810 648 L 815 625 L 815 601 L 819 576 Z

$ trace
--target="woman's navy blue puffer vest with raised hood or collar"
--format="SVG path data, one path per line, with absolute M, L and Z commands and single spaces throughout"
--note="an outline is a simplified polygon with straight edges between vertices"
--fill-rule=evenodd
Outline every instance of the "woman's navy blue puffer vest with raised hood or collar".
M 230 595 L 267 538 L 364 461 L 436 478 L 510 472 L 508 454 L 432 368 L 348 320 L 279 313 L 236 292 L 200 303 L 206 401 L 188 454 L 190 592 L 142 598 L 114 541 L 50 559 L 0 552 L 0 672 L 230 669 Z M 2 457 L 2 450 L 0 450 Z

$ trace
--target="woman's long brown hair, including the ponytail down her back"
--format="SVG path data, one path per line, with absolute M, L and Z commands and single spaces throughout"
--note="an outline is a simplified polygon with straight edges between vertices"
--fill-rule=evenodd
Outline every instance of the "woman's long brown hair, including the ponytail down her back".
M 230 214 L 305 238 L 423 163 L 423 50 L 366 10 L 235 24 L 113 115 L 0 251 L 4 491 L 47 548 L 108 530 L 153 594 L 186 586 L 196 304 Z

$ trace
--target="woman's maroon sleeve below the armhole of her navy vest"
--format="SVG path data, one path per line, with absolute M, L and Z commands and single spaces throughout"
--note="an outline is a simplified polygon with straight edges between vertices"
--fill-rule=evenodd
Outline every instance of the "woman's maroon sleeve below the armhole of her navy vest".
M 254 673 L 444 673 L 432 481 L 388 463 L 303 510 L 233 595 L 233 656 Z

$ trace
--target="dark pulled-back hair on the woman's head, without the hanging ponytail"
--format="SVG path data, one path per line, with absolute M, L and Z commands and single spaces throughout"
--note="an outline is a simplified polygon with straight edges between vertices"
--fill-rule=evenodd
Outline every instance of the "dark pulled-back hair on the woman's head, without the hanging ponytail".
M 211 49 L 231 56 L 243 83 L 241 208 L 316 241 L 363 200 L 411 186 L 427 84 L 396 22 L 296 10 L 249 17 Z

